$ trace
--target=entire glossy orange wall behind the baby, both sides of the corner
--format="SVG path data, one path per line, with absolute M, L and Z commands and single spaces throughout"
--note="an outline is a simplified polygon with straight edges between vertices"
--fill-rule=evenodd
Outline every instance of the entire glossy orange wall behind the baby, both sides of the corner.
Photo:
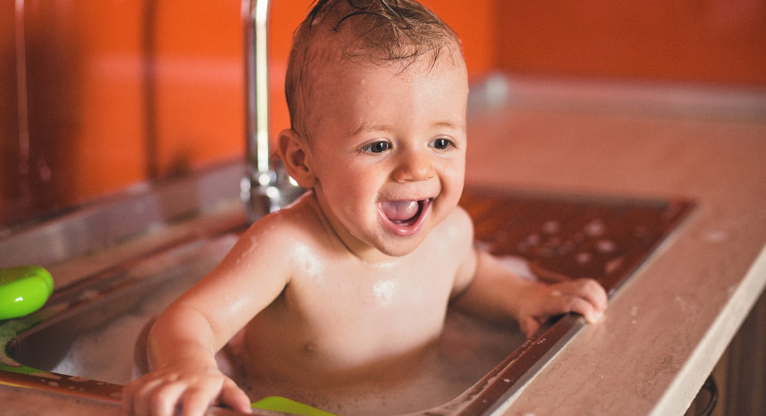
M 463 38 L 474 80 L 500 69 L 766 86 L 764 0 L 424 2 Z M 0 225 L 241 158 L 241 2 L 15 3 L 0 2 Z M 271 0 L 273 131 L 288 125 L 287 49 L 310 3 Z

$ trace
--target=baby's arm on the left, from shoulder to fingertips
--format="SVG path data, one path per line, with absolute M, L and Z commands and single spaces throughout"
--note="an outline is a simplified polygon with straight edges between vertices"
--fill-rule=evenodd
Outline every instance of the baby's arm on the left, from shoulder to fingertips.
M 126 414 L 172 415 L 177 407 L 184 415 L 203 414 L 213 404 L 250 412 L 250 399 L 218 370 L 215 353 L 286 284 L 285 262 L 259 249 L 271 239 L 255 236 L 257 228 L 157 317 L 148 341 L 152 372 L 126 385 Z

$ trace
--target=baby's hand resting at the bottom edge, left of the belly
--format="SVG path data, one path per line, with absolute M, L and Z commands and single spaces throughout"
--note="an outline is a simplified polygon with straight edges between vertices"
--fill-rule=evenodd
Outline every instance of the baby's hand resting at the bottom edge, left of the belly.
M 159 369 L 123 389 L 123 413 L 136 416 L 201 415 L 214 404 L 252 413 L 250 398 L 216 368 Z

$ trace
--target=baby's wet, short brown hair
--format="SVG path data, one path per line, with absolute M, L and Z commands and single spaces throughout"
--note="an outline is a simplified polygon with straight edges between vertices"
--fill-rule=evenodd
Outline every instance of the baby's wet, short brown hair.
M 306 102 L 328 64 L 401 63 L 430 67 L 447 55 L 463 64 L 460 39 L 414 0 L 319 0 L 293 34 L 285 95 L 292 128 L 306 136 Z

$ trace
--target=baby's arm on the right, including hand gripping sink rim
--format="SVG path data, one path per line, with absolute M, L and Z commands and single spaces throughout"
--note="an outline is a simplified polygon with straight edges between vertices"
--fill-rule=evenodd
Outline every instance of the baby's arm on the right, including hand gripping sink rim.
M 489 320 L 513 318 L 527 337 L 556 315 L 575 312 L 594 323 L 607 307 L 606 291 L 593 279 L 555 284 L 529 281 L 513 275 L 489 253 L 473 248 L 464 264 L 468 277 L 458 278 L 453 304 Z

